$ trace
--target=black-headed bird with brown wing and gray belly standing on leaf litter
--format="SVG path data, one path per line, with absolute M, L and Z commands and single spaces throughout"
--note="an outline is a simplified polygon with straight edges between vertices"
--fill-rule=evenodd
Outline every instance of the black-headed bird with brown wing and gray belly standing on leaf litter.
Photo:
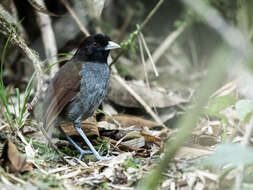
M 81 160 L 85 154 L 99 155 L 81 128 L 81 121 L 91 117 L 104 100 L 110 81 L 107 58 L 112 49 L 120 48 L 105 34 L 86 37 L 73 57 L 65 63 L 50 81 L 43 101 L 44 129 L 52 137 L 55 127 L 79 151 Z M 83 150 L 60 127 L 73 123 L 74 128 L 90 150 Z

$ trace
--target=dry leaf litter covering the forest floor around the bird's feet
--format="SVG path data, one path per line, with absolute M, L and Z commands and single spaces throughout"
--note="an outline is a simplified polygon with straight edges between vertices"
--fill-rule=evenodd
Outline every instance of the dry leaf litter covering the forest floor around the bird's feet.
M 232 98 L 234 89 L 225 88 L 225 91 L 220 90 L 218 95 L 211 97 L 191 139 L 169 163 L 159 189 L 228 188 L 236 175 L 231 163 L 238 164 L 244 158 L 248 158 L 246 164 L 252 163 L 251 149 L 241 149 L 236 144 L 222 145 L 242 140 L 246 125 L 243 119 L 247 119 L 247 114 L 251 112 L 243 100 Z M 188 100 L 177 101 L 175 106 Z M 172 107 L 171 103 L 164 106 Z M 238 112 L 243 113 L 243 117 Z M 1 142 L 5 140 L 0 147 L 1 185 L 6 189 L 135 189 L 138 181 L 159 163 L 163 157 L 164 142 L 168 139 L 173 143 L 173 134 L 177 129 L 164 128 L 147 117 L 112 113 L 102 117 L 99 116 L 101 113 L 97 113 L 82 122 L 83 130 L 100 154 L 114 156 L 106 161 L 97 162 L 92 155 L 87 155 L 83 161 L 78 160 L 78 153 L 73 147 L 55 133 L 57 138 L 54 142 L 65 154 L 67 163 L 64 163 L 45 144 L 36 127 L 29 124 L 22 127 L 22 134 L 30 139 L 27 145 L 17 138 L 12 139 L 15 144 L 6 140 L 2 133 L 9 132 L 5 127 L 0 135 Z M 82 142 L 73 126 L 63 125 L 62 128 L 77 141 L 80 140 L 79 143 Z M 240 152 L 240 156 L 236 157 L 235 151 Z M 224 154 L 227 154 L 226 160 L 221 162 Z M 247 171 L 252 171 L 252 167 Z

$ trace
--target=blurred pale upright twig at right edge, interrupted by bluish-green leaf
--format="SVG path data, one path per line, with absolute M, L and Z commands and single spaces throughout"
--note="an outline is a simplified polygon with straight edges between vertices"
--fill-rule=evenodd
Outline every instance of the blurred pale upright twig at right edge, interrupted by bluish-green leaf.
M 250 142 L 250 137 L 253 132 L 253 116 L 251 116 L 249 124 L 246 126 L 246 131 L 242 139 L 242 146 L 247 147 Z M 235 189 L 240 190 L 242 186 L 242 180 L 243 180 L 243 170 L 244 170 L 244 164 L 240 164 L 237 167 L 237 175 L 235 179 Z

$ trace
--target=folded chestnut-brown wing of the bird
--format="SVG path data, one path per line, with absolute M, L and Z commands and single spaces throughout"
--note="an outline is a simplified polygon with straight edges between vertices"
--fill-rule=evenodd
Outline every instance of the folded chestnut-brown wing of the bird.
M 71 60 L 56 73 L 47 91 L 43 105 L 43 118 L 46 131 L 56 117 L 80 90 L 79 75 L 82 62 Z

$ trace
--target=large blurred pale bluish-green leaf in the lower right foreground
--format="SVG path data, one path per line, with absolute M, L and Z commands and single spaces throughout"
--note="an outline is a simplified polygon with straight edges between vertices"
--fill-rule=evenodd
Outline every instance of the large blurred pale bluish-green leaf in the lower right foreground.
M 253 163 L 253 149 L 244 147 L 240 144 L 223 144 L 217 147 L 215 152 L 208 158 L 208 162 L 220 167 L 224 164 L 239 164 Z

